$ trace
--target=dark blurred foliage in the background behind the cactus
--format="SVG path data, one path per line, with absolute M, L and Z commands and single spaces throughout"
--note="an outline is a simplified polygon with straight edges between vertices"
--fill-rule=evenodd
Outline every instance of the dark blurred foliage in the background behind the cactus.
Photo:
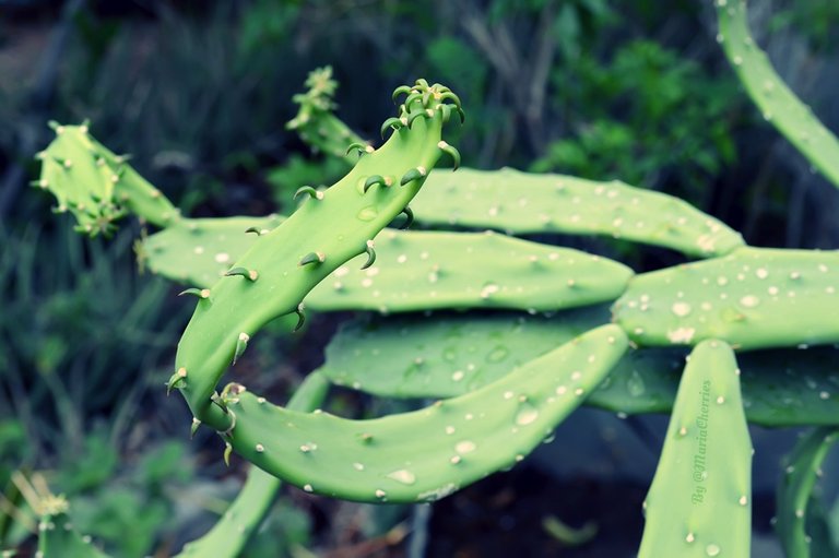
M 752 12 L 780 74 L 838 130 L 839 4 Z M 70 496 L 119 556 L 179 548 L 236 486 L 162 395 L 189 305 L 135 273 L 142 230 L 91 242 L 25 189 L 48 119 L 90 118 L 187 214 L 265 214 L 343 171 L 285 129 L 308 71 L 332 66 L 341 118 L 374 141 L 390 91 L 426 76 L 468 107 L 451 130 L 464 165 L 617 178 L 686 198 L 753 245 L 837 246 L 834 190 L 761 122 L 714 36 L 699 0 L 0 0 L 0 548 L 34 529 L 17 474 Z M 260 344 L 264 385 L 284 393 L 317 364 L 328 333 L 303 339 Z M 388 541 L 395 522 L 284 498 L 263 531 L 287 555 Z M 339 521 L 324 510 L 351 518 L 343 535 L 324 534 Z M 248 556 L 276 556 L 260 541 Z

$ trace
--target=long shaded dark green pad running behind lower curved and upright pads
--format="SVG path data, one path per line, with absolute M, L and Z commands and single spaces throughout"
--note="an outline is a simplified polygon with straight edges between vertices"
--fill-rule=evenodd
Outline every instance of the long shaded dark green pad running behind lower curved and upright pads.
M 320 371 L 339 385 L 386 397 L 454 397 L 486 385 L 607 320 L 602 307 L 551 318 L 434 314 L 348 322 Z M 628 352 L 586 405 L 624 414 L 670 413 L 685 349 Z M 839 349 L 756 351 L 740 356 L 743 406 L 765 426 L 839 424 Z

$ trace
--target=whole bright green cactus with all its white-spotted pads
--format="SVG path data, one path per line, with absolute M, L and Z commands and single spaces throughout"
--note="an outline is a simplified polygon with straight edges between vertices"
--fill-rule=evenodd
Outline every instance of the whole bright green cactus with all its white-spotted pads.
M 763 58 L 747 40 L 745 9 L 722 7 L 723 43 L 730 56 L 741 57 L 733 61 L 742 79 L 764 79 L 764 69 L 751 63 L 753 56 Z M 749 63 L 735 52 L 737 41 Z M 302 186 L 295 195 L 300 205 L 287 218 L 181 218 L 86 127 L 57 127 L 57 140 L 42 156 L 36 186 L 52 189 L 59 209 L 71 211 L 83 231 L 107 233 L 128 212 L 164 228 L 139 245 L 140 260 L 188 282 L 182 294 L 197 297 L 167 387 L 186 397 L 193 427 L 221 435 L 225 460 L 235 451 L 265 472 L 253 473 L 232 514 L 185 555 L 208 545 L 213 551 L 239 548 L 244 536 L 232 530 L 249 532 L 259 522 L 276 489 L 274 476 L 353 500 L 434 501 L 513 465 L 583 402 L 625 414 L 672 412 L 640 556 L 747 555 L 746 419 L 835 428 L 839 416 L 839 381 L 826 364 L 836 348 L 778 348 L 839 342 L 829 319 L 839 309 L 837 252 L 748 247 L 684 202 L 622 182 L 510 169 L 429 175 L 444 154 L 460 165 L 460 154 L 441 139 L 442 124 L 462 118 L 453 93 L 423 80 L 399 87 L 394 97 L 406 96 L 399 116 L 382 126 L 391 136 L 374 149 L 332 114 L 330 71 L 308 85 L 289 127 L 330 156 L 357 164 L 327 190 Z M 780 114 L 781 105 L 772 104 L 787 103 L 788 92 L 772 91 L 778 95 L 764 95 L 772 97 L 766 106 Z M 837 157 L 825 155 L 824 142 L 811 141 L 826 132 L 795 110 L 792 118 L 812 128 L 799 143 L 810 145 L 810 156 L 836 179 Z M 787 120 L 772 118 L 789 133 Z M 436 188 L 425 188 L 412 211 L 407 203 L 428 181 Z M 381 233 L 414 218 L 511 234 L 606 235 L 704 260 L 634 275 L 605 258 L 498 234 Z M 321 311 L 470 309 L 434 314 L 434 323 L 413 314 L 344 329 L 311 380 L 447 399 L 412 413 L 351 420 L 275 406 L 239 383 L 216 392 L 268 321 L 287 316 L 300 324 L 304 299 Z M 566 308 L 577 309 L 554 314 Z M 548 316 L 528 316 L 540 311 Z M 741 377 L 733 351 L 761 348 L 772 351 L 740 355 Z M 793 556 L 805 556 L 806 531 L 795 520 L 826 443 L 823 437 L 813 442 L 818 448 L 796 452 L 806 474 L 782 488 L 780 531 L 796 548 Z

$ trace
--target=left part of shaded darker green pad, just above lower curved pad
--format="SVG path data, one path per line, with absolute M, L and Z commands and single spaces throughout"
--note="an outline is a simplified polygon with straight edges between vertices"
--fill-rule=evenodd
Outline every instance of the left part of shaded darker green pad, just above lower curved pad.
M 551 319 L 435 313 L 351 321 L 327 345 L 321 371 L 336 385 L 385 397 L 453 397 L 607 322 L 602 306 Z

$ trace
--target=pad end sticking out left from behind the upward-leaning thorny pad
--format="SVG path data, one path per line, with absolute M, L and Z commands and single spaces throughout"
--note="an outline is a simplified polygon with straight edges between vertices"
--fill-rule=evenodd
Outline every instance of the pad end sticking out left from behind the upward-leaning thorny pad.
M 138 245 L 141 266 L 200 288 L 216 283 L 255 244 L 260 233 L 273 230 L 283 217 L 185 218 Z M 261 235 L 259 235 L 261 236 Z

